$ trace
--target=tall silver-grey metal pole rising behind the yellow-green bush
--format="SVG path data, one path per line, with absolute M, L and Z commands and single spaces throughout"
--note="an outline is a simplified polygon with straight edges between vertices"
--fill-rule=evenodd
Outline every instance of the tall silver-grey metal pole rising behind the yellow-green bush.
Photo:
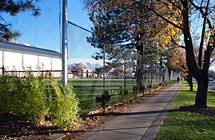
M 62 18 L 62 84 L 67 86 L 67 0 L 63 0 Z

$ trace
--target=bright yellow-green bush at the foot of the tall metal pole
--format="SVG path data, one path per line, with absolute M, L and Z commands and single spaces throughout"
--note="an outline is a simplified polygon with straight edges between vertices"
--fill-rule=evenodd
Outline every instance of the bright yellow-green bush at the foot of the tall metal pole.
M 50 120 L 59 127 L 78 125 L 78 99 L 72 90 L 72 86 L 59 86 L 56 80 L 51 79 L 49 86 L 49 112 Z

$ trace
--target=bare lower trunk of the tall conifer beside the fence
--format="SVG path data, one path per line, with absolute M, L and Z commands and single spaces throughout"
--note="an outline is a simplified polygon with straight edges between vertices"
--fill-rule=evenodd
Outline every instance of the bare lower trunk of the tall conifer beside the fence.
M 139 54 L 137 55 L 136 85 L 140 91 L 143 86 L 143 56 Z

